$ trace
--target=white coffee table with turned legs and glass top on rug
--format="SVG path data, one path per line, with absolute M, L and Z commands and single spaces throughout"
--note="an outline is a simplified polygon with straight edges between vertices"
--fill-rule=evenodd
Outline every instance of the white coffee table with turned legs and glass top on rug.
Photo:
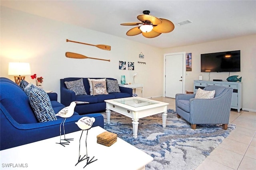
M 132 118 L 132 129 L 134 138 L 138 137 L 138 121 L 143 117 L 162 113 L 162 126 L 166 127 L 168 103 L 140 97 L 112 99 L 105 100 L 105 102 L 107 123 L 110 123 L 111 110 Z

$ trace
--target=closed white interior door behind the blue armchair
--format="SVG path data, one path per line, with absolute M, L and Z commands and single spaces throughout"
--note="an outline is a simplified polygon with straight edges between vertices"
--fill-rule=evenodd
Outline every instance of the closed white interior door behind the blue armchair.
M 171 53 L 165 56 L 165 96 L 175 98 L 184 93 L 184 57 L 185 53 Z

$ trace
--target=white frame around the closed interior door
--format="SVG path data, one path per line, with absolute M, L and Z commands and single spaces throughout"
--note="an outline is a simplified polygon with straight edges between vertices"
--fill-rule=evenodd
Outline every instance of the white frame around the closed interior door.
M 183 55 L 183 69 L 182 69 L 182 93 L 185 93 L 185 76 L 186 76 L 186 52 L 178 52 L 178 53 L 167 53 L 164 54 L 164 89 L 163 96 L 165 97 L 165 75 L 166 75 L 166 56 L 167 55 Z

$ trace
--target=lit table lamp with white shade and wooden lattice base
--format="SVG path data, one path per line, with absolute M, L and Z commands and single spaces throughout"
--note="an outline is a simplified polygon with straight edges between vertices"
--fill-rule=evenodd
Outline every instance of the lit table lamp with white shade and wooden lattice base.
M 20 84 L 21 80 L 25 80 L 25 76 L 20 75 L 30 75 L 30 64 L 29 63 L 9 63 L 8 75 L 15 75 L 14 80 L 16 84 Z M 19 76 L 16 76 L 19 75 Z

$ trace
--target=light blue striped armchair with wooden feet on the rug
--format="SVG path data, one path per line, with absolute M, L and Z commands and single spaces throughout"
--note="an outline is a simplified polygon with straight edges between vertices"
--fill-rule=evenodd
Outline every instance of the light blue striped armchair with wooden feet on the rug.
M 182 117 L 196 129 L 197 124 L 222 124 L 228 128 L 233 89 L 223 86 L 206 86 L 203 90 L 215 90 L 214 98 L 196 99 L 196 94 L 176 94 L 177 117 Z

